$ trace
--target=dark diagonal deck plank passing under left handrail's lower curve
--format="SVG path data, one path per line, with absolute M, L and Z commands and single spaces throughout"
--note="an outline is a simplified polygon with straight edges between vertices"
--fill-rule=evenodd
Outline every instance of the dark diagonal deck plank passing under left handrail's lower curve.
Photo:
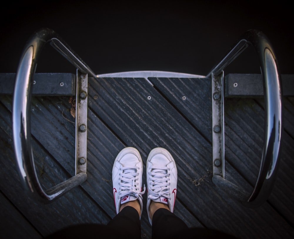
M 1 101 L 6 100 L 1 98 Z M 0 190 L 31 225 L 42 236 L 46 236 L 69 225 L 107 223 L 110 219 L 109 216 L 81 187 L 72 189 L 63 197 L 49 204 L 36 200 L 30 193 L 24 191 L 15 168 L 11 113 L 2 104 L 0 107 L 1 149 L 5 148 L 5 151 L 2 151 L 5 154 L 1 154 L 0 160 L 0 180 L 2 182 Z M 50 127 L 46 121 L 44 123 L 44 127 Z M 33 149 L 36 170 L 44 188 L 56 185 L 71 176 L 36 140 L 33 140 Z

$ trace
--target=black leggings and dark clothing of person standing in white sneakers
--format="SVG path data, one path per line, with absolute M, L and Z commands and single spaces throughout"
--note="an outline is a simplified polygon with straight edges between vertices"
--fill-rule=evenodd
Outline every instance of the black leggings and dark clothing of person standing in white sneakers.
M 135 208 L 127 206 L 107 225 L 75 225 L 46 238 L 141 238 L 140 217 Z M 206 228 L 188 226 L 169 210 L 158 209 L 152 218 L 152 238 L 235 238 L 228 234 Z

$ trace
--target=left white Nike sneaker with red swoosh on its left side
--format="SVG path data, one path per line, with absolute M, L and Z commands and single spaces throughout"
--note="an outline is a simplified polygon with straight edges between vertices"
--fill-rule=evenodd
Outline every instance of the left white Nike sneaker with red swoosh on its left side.
M 129 201 L 139 200 L 141 214 L 143 209 L 142 195 L 143 161 L 139 151 L 133 147 L 121 150 L 113 163 L 112 183 L 116 214 L 120 205 Z

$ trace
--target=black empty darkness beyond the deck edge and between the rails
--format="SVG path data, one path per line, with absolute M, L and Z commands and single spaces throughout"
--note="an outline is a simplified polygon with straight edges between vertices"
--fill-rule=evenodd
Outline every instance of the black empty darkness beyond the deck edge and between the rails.
M 270 39 L 282 74 L 293 70 L 293 9 L 282 1 L 28 1 L 1 6 L 0 73 L 17 71 L 34 31 L 56 31 L 96 73 L 159 70 L 206 75 L 247 30 Z M 75 68 L 50 45 L 37 72 Z M 227 73 L 260 73 L 248 48 Z

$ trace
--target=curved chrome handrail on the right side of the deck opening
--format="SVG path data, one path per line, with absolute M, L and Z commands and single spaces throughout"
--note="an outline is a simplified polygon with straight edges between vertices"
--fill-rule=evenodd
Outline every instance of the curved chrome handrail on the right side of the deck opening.
M 245 197 L 243 197 L 243 190 L 239 190 L 237 186 L 232 190 L 232 183 L 228 182 L 220 175 L 214 175 L 213 182 L 224 190 L 228 189 L 228 193 L 234 194 L 237 198 L 243 198 L 242 201 L 245 205 L 256 207 L 267 200 L 273 188 L 273 183 L 278 171 L 283 132 L 283 94 L 281 76 L 270 41 L 265 34 L 260 31 L 250 30 L 246 32 L 223 60 L 220 61 L 220 63 L 207 75 L 207 77 L 210 77 L 212 73 L 214 75 L 222 73 L 224 68 L 249 45 L 252 45 L 258 54 L 260 70 L 263 76 L 265 98 L 264 145 L 258 178 L 251 195 Z M 224 181 L 227 181 L 230 186 L 224 186 Z

